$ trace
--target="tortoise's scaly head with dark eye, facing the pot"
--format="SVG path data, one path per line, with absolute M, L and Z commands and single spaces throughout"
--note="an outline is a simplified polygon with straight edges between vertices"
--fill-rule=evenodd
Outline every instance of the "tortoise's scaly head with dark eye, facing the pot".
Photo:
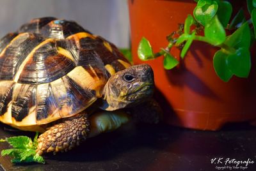
M 140 64 L 118 71 L 106 83 L 104 110 L 134 107 L 154 92 L 154 73 L 148 64 Z

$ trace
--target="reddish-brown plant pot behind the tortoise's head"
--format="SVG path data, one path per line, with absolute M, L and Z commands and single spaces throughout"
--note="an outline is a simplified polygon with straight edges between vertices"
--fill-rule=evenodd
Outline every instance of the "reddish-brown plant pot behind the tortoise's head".
M 143 36 L 155 52 L 166 47 L 166 36 L 176 31 L 188 14 L 193 14 L 195 6 L 193 0 L 129 1 L 134 64 L 145 63 L 137 57 L 138 43 Z M 226 123 L 256 121 L 255 61 L 252 61 L 249 78 L 232 77 L 229 82 L 223 82 L 212 66 L 216 50 L 218 48 L 195 41 L 184 61 L 169 71 L 163 68 L 163 57 L 147 62 L 154 70 L 156 98 L 163 107 L 166 123 L 218 130 Z M 180 52 L 172 49 L 172 54 L 179 57 Z

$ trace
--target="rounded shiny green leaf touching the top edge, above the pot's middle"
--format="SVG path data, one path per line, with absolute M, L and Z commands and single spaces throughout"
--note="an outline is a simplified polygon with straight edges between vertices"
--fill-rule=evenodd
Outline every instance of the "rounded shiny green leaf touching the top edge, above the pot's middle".
M 193 11 L 195 19 L 205 26 L 209 20 L 211 20 L 218 11 L 218 3 L 211 0 L 198 1 L 195 10 Z

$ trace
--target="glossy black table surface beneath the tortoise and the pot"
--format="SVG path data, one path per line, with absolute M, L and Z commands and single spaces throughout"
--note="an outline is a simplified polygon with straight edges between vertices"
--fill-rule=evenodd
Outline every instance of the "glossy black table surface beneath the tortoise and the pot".
M 35 135 L 0 126 L 0 138 Z M 0 144 L 0 150 L 8 147 Z M 252 163 L 256 162 L 256 128 L 240 123 L 220 131 L 198 131 L 163 123 L 129 123 L 72 151 L 44 158 L 45 165 L 14 165 L 10 158 L 0 157 L 0 170 L 256 170 Z M 248 160 L 247 166 L 237 165 Z

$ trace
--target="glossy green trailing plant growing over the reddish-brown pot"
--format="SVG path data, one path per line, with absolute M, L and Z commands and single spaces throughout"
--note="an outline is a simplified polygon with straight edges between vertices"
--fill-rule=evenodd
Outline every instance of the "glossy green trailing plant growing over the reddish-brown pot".
M 170 54 L 173 47 L 182 48 L 180 57 L 184 59 L 193 41 L 204 41 L 219 47 L 213 57 L 214 70 L 221 80 L 228 82 L 233 75 L 248 77 L 251 70 L 250 45 L 256 36 L 256 0 L 247 0 L 251 19 L 246 21 L 244 11 L 238 11 L 234 19 L 232 5 L 222 0 L 195 0 L 197 5 L 193 16 L 188 15 L 179 31 L 167 36 L 168 45 L 154 53 L 150 42 L 142 38 L 138 46 L 138 56 L 147 61 L 164 56 L 163 65 L 170 70 L 179 64 L 177 57 Z M 250 29 L 252 23 L 254 30 Z M 252 27 L 252 28 L 253 28 Z M 233 31 L 231 35 L 226 30 Z M 202 32 L 204 34 L 202 34 Z

